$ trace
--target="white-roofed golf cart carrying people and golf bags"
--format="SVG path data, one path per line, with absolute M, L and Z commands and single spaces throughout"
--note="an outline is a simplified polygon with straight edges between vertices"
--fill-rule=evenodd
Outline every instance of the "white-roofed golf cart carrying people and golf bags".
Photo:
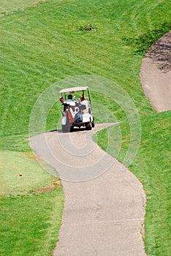
M 91 108 L 91 98 L 88 86 L 73 87 L 59 91 L 62 110 L 62 132 L 72 132 L 75 127 L 94 127 L 94 116 Z

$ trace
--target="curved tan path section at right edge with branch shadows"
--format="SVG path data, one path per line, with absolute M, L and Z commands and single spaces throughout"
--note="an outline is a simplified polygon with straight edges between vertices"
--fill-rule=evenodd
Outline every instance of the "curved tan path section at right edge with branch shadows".
M 140 80 L 157 112 L 171 110 L 171 31 L 154 42 L 145 54 Z

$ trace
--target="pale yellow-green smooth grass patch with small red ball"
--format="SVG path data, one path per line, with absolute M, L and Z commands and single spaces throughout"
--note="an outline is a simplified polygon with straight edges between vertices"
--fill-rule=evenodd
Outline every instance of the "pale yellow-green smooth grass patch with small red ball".
M 24 194 L 38 188 L 52 187 L 57 179 L 42 169 L 32 153 L 1 151 L 0 162 L 0 195 Z M 19 176 L 20 173 L 22 176 Z M 50 173 L 56 174 L 53 168 Z

